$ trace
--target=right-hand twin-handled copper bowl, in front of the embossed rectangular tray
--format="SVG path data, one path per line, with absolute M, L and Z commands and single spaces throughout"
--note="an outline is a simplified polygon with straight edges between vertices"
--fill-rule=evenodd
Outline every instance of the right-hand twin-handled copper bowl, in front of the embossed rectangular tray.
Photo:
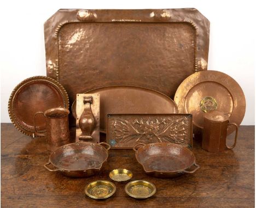
M 141 147 L 136 149 L 138 146 Z M 184 173 L 195 173 L 199 169 L 193 152 L 177 144 L 139 143 L 133 150 L 144 171 L 155 177 L 173 178 Z M 196 168 L 190 170 L 193 166 Z

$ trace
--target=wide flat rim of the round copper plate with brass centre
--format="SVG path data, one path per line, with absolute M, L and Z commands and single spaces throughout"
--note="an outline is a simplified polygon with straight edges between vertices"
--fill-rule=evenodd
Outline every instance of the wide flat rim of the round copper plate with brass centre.
M 215 82 L 217 84 L 222 85 L 224 88 L 226 88 L 229 91 L 232 97 L 232 102 L 234 103 L 232 113 L 229 119 L 231 119 L 231 122 L 234 122 L 240 125 L 243 118 L 245 117 L 245 114 L 243 114 L 242 116 L 239 115 L 239 113 L 241 112 L 241 108 L 242 108 L 242 112 L 246 111 L 245 94 L 243 93 L 241 86 L 235 81 L 234 78 L 232 78 L 231 76 L 221 71 L 216 71 L 216 70 L 198 71 L 190 75 L 189 77 L 185 78 L 184 81 L 179 85 L 176 91 L 176 94 L 174 95 L 174 101 L 177 103 L 178 112 L 189 113 L 187 112 L 187 109 L 185 107 L 185 99 L 187 98 L 189 91 L 193 89 L 193 87 L 195 87 L 197 84 L 204 83 L 204 82 Z M 237 101 L 238 97 L 239 99 L 241 98 L 240 102 Z M 237 105 L 235 105 L 236 103 Z M 217 110 L 221 111 L 218 108 Z M 235 117 L 234 112 L 237 113 L 238 116 Z M 235 120 L 232 120 L 233 117 L 235 117 L 234 118 Z M 194 122 L 193 122 L 193 125 L 198 127 L 200 130 L 203 129 L 203 126 L 196 125 Z M 228 134 L 230 134 L 231 132 L 232 131 L 228 129 Z

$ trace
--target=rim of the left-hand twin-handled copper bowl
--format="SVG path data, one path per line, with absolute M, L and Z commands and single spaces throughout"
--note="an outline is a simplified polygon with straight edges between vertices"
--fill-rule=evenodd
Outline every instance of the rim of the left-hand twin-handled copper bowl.
M 103 163 L 106 162 L 107 159 L 108 159 L 108 150 L 107 150 L 106 148 L 104 148 L 103 146 L 101 146 L 101 145 L 100 145 L 100 146 L 101 146 L 104 150 L 106 150 L 106 154 L 107 154 L 107 155 L 106 155 L 106 159 L 101 162 L 99 168 L 87 168 L 87 169 L 82 169 L 82 170 L 79 170 L 79 169 L 77 169 L 77 170 L 71 170 L 71 169 L 66 169 L 66 168 L 60 168 L 60 167 L 58 167 L 56 164 L 53 163 L 51 157 L 56 154 L 56 151 L 57 151 L 57 150 L 59 150 L 59 149 L 65 149 L 66 146 L 80 145 L 80 144 L 82 144 L 82 145 L 88 144 L 88 145 L 92 145 L 92 146 L 94 146 L 94 145 L 100 145 L 100 143 L 96 144 L 96 143 L 90 143 L 90 142 L 75 142 L 75 143 L 70 143 L 70 144 L 66 144 L 66 145 L 60 146 L 59 148 L 55 149 L 55 150 L 50 154 L 50 156 L 49 156 L 49 163 L 52 164 L 57 170 L 59 170 L 59 171 L 61 171 L 61 172 L 63 172 L 63 171 L 67 171 L 67 172 L 77 172 L 77 171 L 78 171 L 78 172 L 85 172 L 85 171 L 88 171 L 88 170 L 100 170 L 100 169 L 102 168 L 102 166 L 103 166 Z M 63 152 L 63 151 L 62 151 L 62 152 Z

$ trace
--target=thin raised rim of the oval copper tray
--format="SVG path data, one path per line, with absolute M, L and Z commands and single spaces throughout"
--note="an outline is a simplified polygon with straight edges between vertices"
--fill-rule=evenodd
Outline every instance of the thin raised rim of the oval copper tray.
M 175 111 L 178 112 L 178 106 L 176 104 L 176 102 L 174 102 L 171 97 L 168 97 L 167 95 L 165 95 L 164 93 L 161 93 L 160 91 L 154 90 L 154 89 L 149 89 L 149 88 L 144 88 L 144 87 L 138 87 L 138 86 L 134 86 L 134 85 L 108 85 L 105 87 L 99 87 L 99 88 L 95 88 L 95 89 L 91 89 L 89 91 L 86 91 L 84 94 L 86 93 L 91 93 L 91 91 L 95 91 L 95 90 L 100 90 L 100 89 L 106 89 L 106 88 L 119 88 L 119 87 L 127 87 L 127 88 L 133 88 L 133 89 L 139 89 L 139 90 L 145 90 L 145 91 L 153 91 L 155 94 L 160 94 L 162 97 L 165 97 L 167 100 L 171 101 L 175 107 Z M 77 99 L 74 100 L 74 102 L 72 103 L 72 115 L 74 118 L 77 118 L 77 114 L 75 112 L 75 108 L 74 108 L 74 103 L 77 102 Z M 112 113 L 113 114 L 113 113 Z M 100 130 L 100 132 L 102 133 L 106 133 L 107 130 Z

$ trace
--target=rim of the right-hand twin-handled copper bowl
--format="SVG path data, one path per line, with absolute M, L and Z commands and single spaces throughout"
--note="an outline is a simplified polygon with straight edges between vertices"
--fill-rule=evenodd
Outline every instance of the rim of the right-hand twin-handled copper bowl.
M 188 151 L 188 152 L 191 154 L 191 156 L 194 157 L 194 162 L 191 164 L 191 166 L 188 166 L 188 167 L 186 167 L 186 168 L 184 168 L 184 169 L 179 169 L 179 170 L 172 170 L 172 171 L 168 171 L 168 170 L 162 170 L 162 171 L 159 171 L 159 170 L 146 170 L 146 168 L 144 167 L 144 164 L 141 163 L 141 161 L 138 160 L 138 156 L 137 156 L 137 155 L 138 155 L 138 150 L 141 149 L 141 148 L 143 148 L 143 147 L 146 146 L 146 145 L 153 146 L 153 145 L 159 145 L 159 144 L 167 144 L 167 146 L 172 146 L 172 145 L 174 145 L 174 146 L 178 146 L 179 148 L 186 149 L 186 151 Z M 136 152 L 135 152 L 135 157 L 136 157 L 137 162 L 138 162 L 139 164 L 141 164 L 141 166 L 143 167 L 143 169 L 144 169 L 144 171 L 145 171 L 146 173 L 160 173 L 160 174 L 161 174 L 161 173 L 181 173 L 181 172 L 183 172 L 183 170 L 189 169 L 190 167 L 192 167 L 192 166 L 195 164 L 195 155 L 194 155 L 194 153 L 193 153 L 192 151 L 190 151 L 188 148 L 186 148 L 185 146 L 181 146 L 181 145 L 173 144 L 173 143 L 152 143 L 152 144 L 145 144 L 145 145 L 141 146 L 141 148 L 138 148 L 138 149 L 136 150 Z

